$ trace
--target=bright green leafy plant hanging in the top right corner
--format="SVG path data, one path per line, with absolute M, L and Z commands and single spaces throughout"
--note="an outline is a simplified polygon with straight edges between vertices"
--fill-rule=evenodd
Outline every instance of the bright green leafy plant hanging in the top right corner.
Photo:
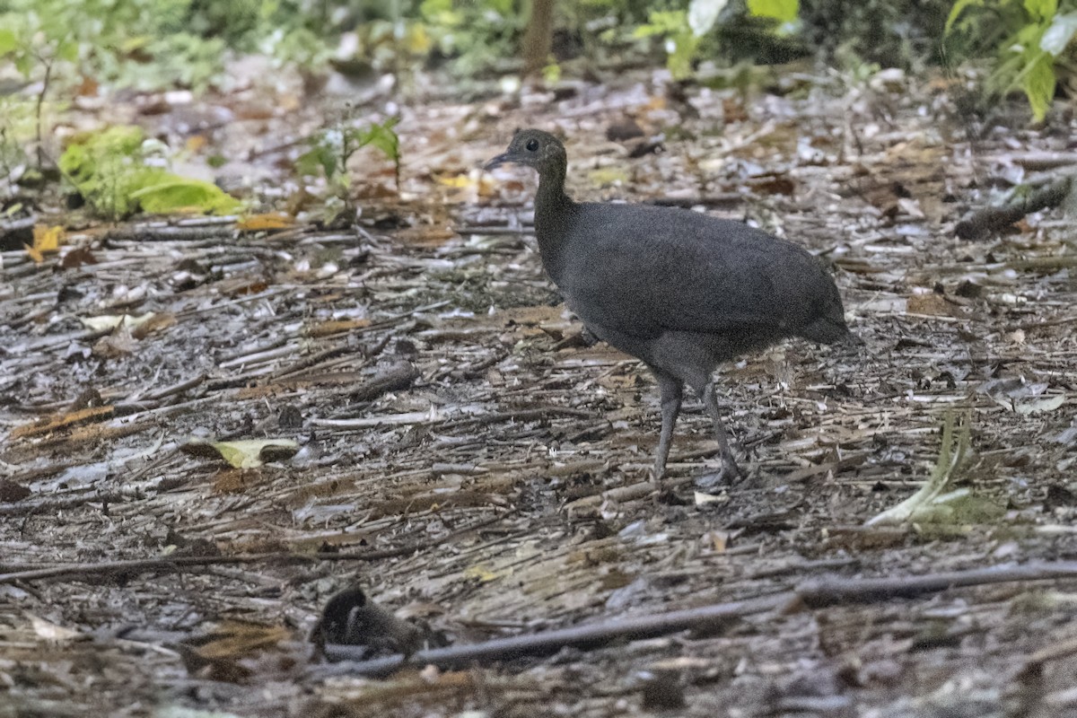
M 1050 109 L 1055 68 L 1075 33 L 1074 0 L 957 0 L 946 24 L 948 39 L 964 41 L 963 54 L 995 53 L 983 87 L 987 97 L 1020 89 L 1037 122 Z

